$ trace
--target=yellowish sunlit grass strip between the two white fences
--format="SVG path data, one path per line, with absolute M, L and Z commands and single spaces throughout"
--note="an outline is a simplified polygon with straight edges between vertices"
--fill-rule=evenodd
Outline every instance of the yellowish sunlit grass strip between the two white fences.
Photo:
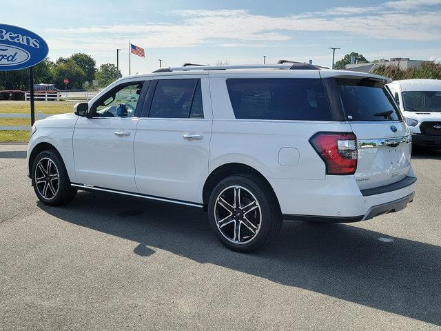
M 73 112 L 75 102 L 68 101 L 35 101 L 35 113 L 63 114 Z M 30 114 L 30 101 L 0 101 L 0 114 Z

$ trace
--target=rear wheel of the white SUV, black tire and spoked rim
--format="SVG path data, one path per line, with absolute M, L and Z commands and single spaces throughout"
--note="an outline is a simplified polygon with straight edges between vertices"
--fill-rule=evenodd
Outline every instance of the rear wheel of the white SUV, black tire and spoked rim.
M 238 205 L 237 203 L 234 205 L 227 203 L 227 208 L 224 208 L 223 206 L 226 205 L 224 201 L 232 199 L 236 201 L 235 197 L 240 196 L 240 194 L 236 194 L 238 192 L 236 190 L 243 192 L 242 199 L 245 202 L 239 202 L 240 208 L 234 209 Z M 256 200 L 255 208 L 253 203 L 249 202 L 253 199 Z M 254 210 L 247 211 L 250 209 L 250 207 L 244 208 L 247 205 L 251 205 Z M 247 215 L 243 214 L 244 212 Z M 229 213 L 232 214 L 229 215 Z M 230 250 L 237 252 L 252 252 L 269 243 L 276 237 L 283 223 L 278 201 L 276 201 L 274 193 L 271 192 L 271 188 L 265 181 L 250 174 L 230 176 L 216 185 L 209 197 L 208 217 L 210 226 L 216 232 L 220 242 Z M 221 222 L 225 218 L 227 218 L 226 221 Z M 239 239 L 237 240 L 237 238 Z

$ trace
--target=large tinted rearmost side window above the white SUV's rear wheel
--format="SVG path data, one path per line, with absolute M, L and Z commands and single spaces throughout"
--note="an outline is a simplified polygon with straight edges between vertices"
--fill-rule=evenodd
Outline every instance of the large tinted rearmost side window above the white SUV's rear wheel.
M 321 79 L 227 79 L 227 88 L 236 119 L 331 120 Z

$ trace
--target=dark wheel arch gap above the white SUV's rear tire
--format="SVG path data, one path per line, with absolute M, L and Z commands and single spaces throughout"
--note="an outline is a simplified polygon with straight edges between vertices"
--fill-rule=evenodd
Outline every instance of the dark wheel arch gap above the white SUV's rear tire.
M 221 181 L 222 179 L 235 175 L 235 174 L 251 174 L 258 179 L 267 187 L 269 190 L 269 194 L 271 194 L 277 205 L 278 209 L 280 210 L 280 205 L 278 203 L 278 199 L 276 196 L 276 192 L 274 192 L 274 189 L 271 186 L 271 183 L 266 179 L 265 176 L 263 176 L 262 173 L 260 173 L 258 170 L 253 168 L 250 165 L 244 164 L 244 163 L 225 163 L 223 165 L 219 165 L 218 168 L 214 169 L 212 172 L 210 172 L 209 176 L 205 180 L 203 191 L 202 191 L 202 199 L 203 199 L 203 208 L 206 211 L 209 195 L 214 189 L 214 187 Z

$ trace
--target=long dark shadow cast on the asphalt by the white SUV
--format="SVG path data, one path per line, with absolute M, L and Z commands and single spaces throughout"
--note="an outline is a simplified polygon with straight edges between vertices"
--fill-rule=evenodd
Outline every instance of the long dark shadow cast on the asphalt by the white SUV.
M 441 248 L 391 238 L 352 225 L 285 222 L 276 243 L 254 254 L 224 248 L 198 208 L 79 192 L 72 203 L 45 212 L 64 221 L 199 263 L 213 263 L 371 308 L 441 325 Z

